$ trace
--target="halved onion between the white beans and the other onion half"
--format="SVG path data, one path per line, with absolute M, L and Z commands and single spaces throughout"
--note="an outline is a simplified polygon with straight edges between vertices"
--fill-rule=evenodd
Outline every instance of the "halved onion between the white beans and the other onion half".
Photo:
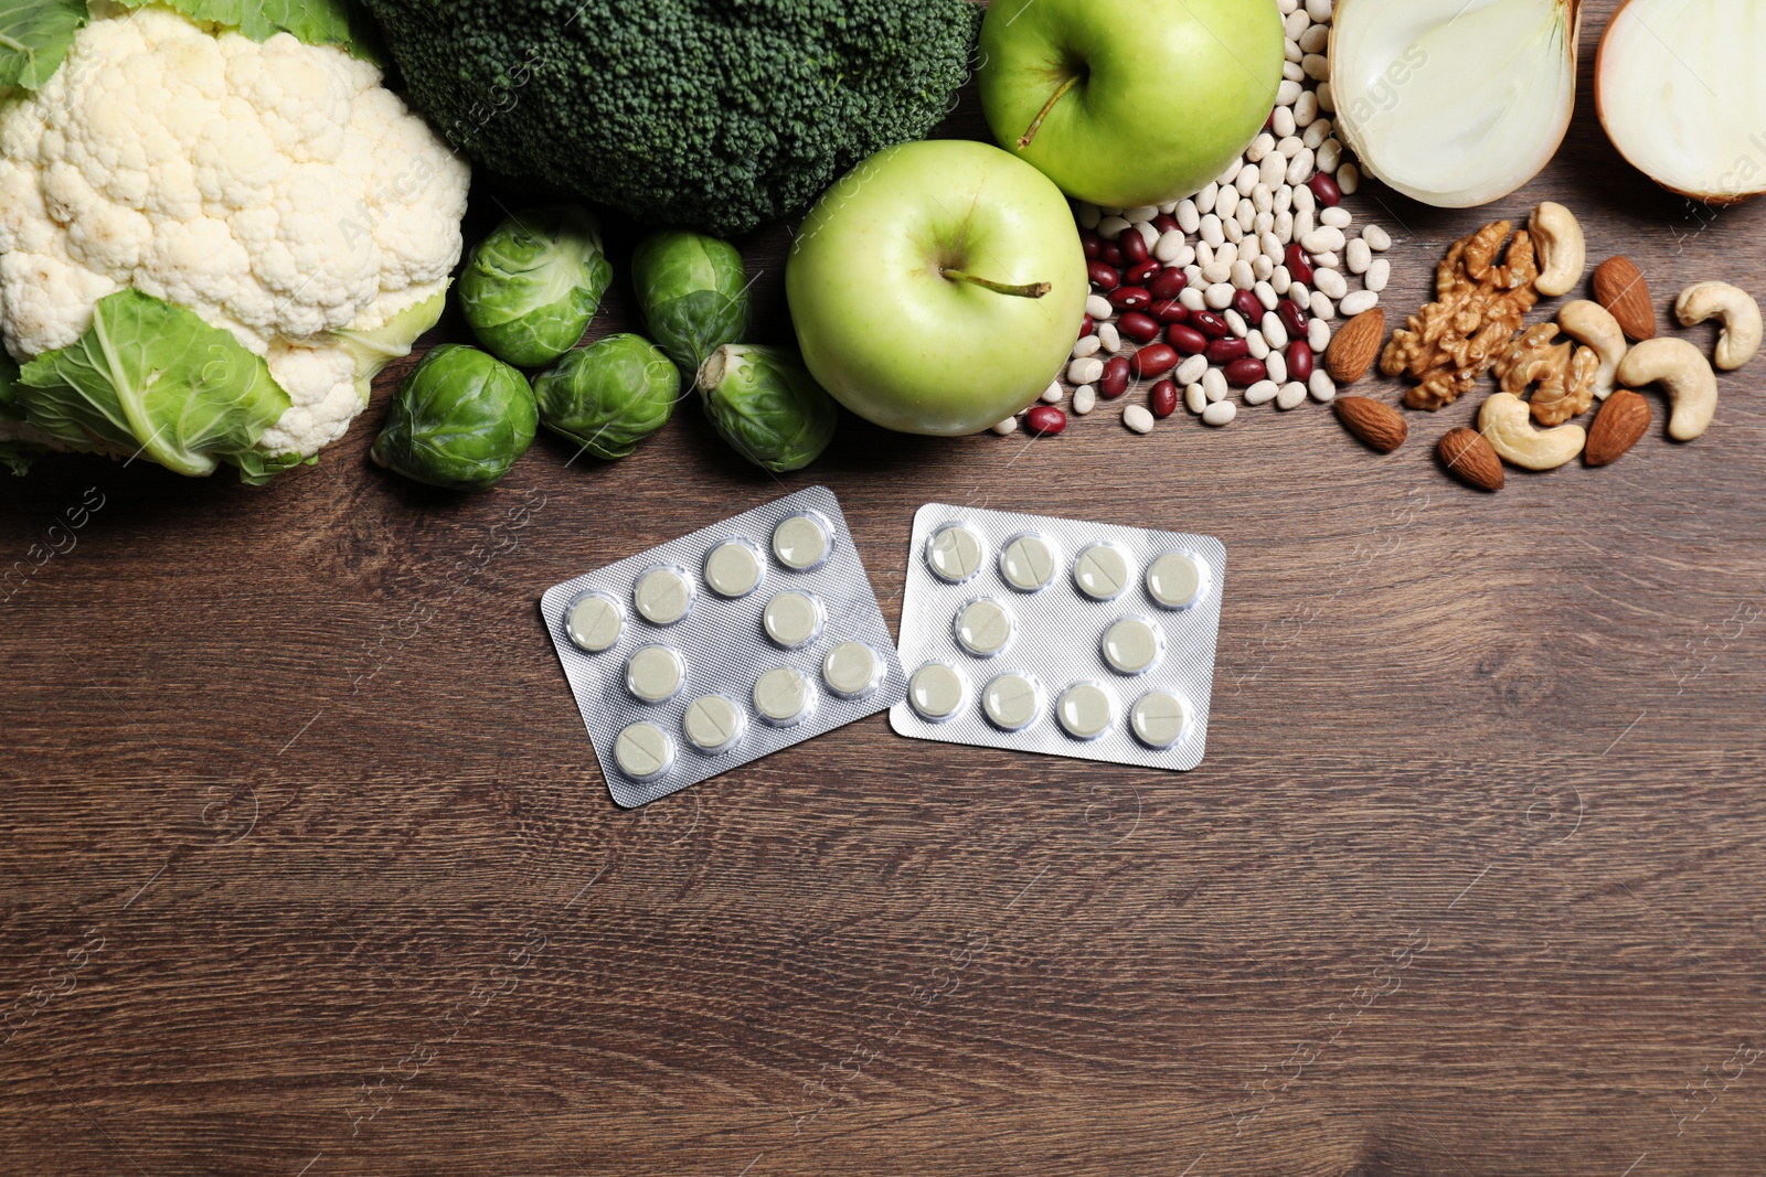
M 1365 171 L 1425 205 L 1508 196 L 1570 129 L 1581 21 L 1581 0 L 1337 0 L 1337 127 Z

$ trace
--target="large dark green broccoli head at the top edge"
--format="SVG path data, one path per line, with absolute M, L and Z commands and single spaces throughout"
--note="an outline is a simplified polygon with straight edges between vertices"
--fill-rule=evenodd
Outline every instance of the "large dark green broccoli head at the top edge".
M 367 0 L 456 148 L 639 221 L 735 235 L 920 139 L 973 0 Z

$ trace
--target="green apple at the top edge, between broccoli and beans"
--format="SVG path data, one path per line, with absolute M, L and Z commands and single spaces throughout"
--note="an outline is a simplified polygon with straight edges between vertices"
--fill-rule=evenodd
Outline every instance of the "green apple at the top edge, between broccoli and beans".
M 982 109 L 1000 145 L 1068 196 L 1162 205 L 1263 129 L 1284 42 L 1273 0 L 994 0 Z

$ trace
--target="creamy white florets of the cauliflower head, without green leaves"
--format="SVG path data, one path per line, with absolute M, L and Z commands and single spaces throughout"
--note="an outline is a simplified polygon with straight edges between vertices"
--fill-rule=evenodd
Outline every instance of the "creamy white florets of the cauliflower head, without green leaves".
M 67 348 L 129 288 L 185 307 L 288 394 L 258 450 L 311 457 L 440 318 L 468 182 L 341 48 L 94 19 L 0 113 L 0 341 L 19 362 Z

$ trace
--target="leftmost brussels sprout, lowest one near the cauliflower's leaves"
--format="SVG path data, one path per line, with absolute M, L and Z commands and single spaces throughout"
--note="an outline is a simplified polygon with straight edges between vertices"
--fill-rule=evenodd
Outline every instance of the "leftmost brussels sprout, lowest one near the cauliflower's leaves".
M 406 478 L 482 491 L 528 452 L 537 427 L 526 376 L 477 348 L 442 344 L 399 385 L 371 454 Z

